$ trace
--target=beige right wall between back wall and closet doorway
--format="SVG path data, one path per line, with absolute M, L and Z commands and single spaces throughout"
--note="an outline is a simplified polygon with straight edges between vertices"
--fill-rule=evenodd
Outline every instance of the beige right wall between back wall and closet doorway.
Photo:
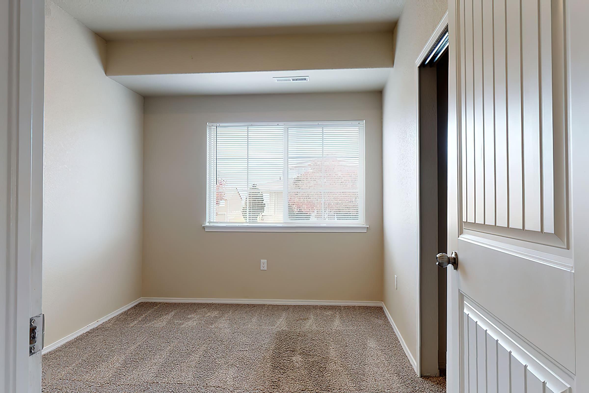
M 383 301 L 417 358 L 417 174 L 415 61 L 448 9 L 412 0 L 395 28 L 395 64 L 383 91 Z M 398 289 L 395 290 L 395 275 Z

